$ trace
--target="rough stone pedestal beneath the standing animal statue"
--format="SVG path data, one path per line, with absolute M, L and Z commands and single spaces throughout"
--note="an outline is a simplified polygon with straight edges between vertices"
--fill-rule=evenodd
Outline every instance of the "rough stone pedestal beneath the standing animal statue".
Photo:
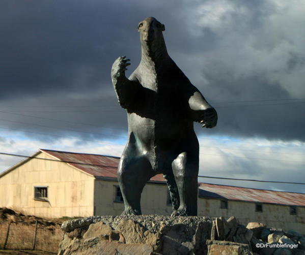
M 252 254 L 252 231 L 234 217 L 94 216 L 65 221 L 62 229 L 59 255 Z

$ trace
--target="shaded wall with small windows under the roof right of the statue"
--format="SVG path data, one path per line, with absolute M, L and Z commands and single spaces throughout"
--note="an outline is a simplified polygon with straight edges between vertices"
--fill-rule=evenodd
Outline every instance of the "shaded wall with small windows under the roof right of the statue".
M 262 204 L 263 212 L 256 212 L 255 206 L 255 203 L 228 201 L 228 209 L 221 209 L 220 200 L 200 198 L 198 215 L 224 216 L 226 219 L 235 216 L 243 225 L 256 221 L 266 224 L 268 228 L 294 230 L 305 234 L 304 207 L 297 207 L 297 215 L 290 215 L 289 206 Z

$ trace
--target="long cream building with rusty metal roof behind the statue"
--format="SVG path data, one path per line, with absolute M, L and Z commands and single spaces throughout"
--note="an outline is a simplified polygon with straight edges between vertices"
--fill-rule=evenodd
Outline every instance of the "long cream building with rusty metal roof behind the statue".
M 0 174 L 0 207 L 44 217 L 119 215 L 120 158 L 40 149 Z M 198 215 L 234 215 L 241 224 L 305 234 L 305 194 L 199 183 Z M 172 205 L 162 175 L 143 190 L 143 214 L 169 215 Z

